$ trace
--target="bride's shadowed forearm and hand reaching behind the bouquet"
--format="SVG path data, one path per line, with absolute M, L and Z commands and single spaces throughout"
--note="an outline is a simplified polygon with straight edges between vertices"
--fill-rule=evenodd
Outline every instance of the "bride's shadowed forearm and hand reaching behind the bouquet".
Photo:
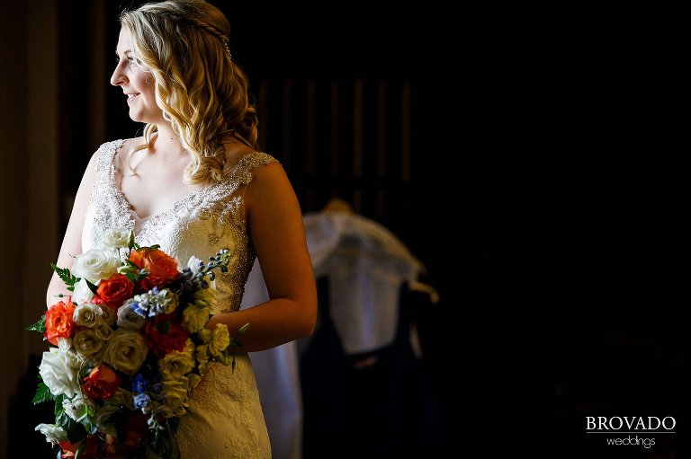
M 311 316 L 310 307 L 291 299 L 277 298 L 235 313 L 215 314 L 206 328 L 212 329 L 217 323 L 223 323 L 233 336 L 248 323 L 247 330 L 239 339 L 242 347 L 237 352 L 256 352 L 310 336 L 315 322 L 316 316 Z

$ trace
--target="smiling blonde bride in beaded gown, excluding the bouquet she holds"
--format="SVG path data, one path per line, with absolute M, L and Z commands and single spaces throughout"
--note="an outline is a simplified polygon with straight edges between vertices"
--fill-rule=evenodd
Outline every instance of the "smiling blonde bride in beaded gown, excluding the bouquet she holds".
M 103 143 L 76 194 L 56 264 L 94 246 L 105 228 L 133 230 L 181 263 L 234 250 L 207 328 L 243 324 L 237 366 L 215 366 L 194 388 L 176 441 L 183 458 L 271 456 L 247 352 L 307 337 L 317 297 L 301 208 L 283 167 L 257 146 L 247 76 L 229 49 L 219 9 L 193 0 L 144 4 L 120 15 L 121 89 L 143 136 Z M 239 310 L 257 259 L 270 299 Z M 57 274 L 47 304 L 67 295 Z

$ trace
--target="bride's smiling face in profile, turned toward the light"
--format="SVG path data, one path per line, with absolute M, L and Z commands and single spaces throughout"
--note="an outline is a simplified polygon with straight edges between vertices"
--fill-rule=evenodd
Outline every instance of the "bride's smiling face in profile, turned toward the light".
M 115 54 L 118 65 L 112 72 L 111 84 L 120 86 L 127 96 L 130 118 L 142 123 L 159 123 L 162 110 L 156 104 L 154 75 L 140 66 L 139 59 L 134 57 L 130 31 L 125 27 L 120 30 Z

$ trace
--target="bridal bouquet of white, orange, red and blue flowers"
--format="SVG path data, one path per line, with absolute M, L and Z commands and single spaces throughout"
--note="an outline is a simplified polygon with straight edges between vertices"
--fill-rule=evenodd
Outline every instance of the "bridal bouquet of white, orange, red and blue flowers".
M 156 245 L 111 228 L 69 269 L 51 264 L 62 296 L 27 330 L 53 346 L 43 353 L 33 403 L 55 402 L 54 423 L 36 430 L 58 457 L 88 459 L 178 455 L 175 430 L 193 388 L 214 362 L 235 366 L 240 335 L 211 317 L 214 269 L 228 271 L 228 250 L 185 267 Z

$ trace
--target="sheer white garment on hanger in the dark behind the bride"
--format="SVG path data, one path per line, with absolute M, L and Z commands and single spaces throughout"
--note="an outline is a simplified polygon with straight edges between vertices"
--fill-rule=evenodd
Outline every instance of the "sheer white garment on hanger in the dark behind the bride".
M 399 317 L 399 289 L 425 272 L 386 227 L 353 212 L 303 216 L 315 275 L 328 277 L 329 311 L 348 354 L 389 345 Z

